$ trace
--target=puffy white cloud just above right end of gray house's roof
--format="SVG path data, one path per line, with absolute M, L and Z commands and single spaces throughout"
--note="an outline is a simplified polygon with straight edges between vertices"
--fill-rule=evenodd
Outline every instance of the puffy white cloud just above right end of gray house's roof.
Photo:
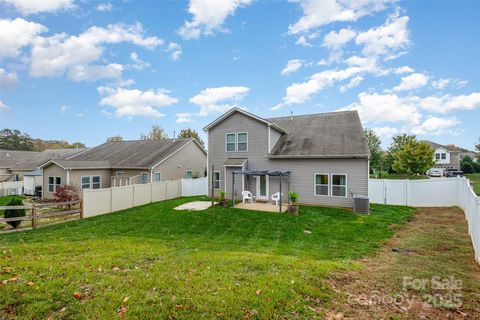
M 420 123 L 421 113 L 409 98 L 362 92 L 358 99 L 358 102 L 342 110 L 357 110 L 362 121 L 366 123 L 400 122 L 410 126 Z

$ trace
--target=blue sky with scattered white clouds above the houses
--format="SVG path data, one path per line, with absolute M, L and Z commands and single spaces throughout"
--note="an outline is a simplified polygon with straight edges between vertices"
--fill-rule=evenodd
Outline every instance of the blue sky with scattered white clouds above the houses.
M 479 1 L 0 0 L 0 128 L 90 147 L 236 106 L 473 149 L 479 71 Z

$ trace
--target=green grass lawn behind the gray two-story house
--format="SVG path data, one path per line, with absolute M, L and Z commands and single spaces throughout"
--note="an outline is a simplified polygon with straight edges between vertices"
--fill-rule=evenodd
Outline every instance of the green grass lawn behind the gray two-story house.
M 329 273 L 358 268 L 414 212 L 172 210 L 192 199 L 0 235 L 0 281 L 13 278 L 0 318 L 315 317 L 333 297 Z

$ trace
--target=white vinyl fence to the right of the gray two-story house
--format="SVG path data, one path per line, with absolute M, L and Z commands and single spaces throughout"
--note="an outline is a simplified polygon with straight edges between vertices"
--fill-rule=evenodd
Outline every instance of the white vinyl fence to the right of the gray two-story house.
M 466 178 L 428 180 L 370 179 L 368 197 L 372 203 L 412 207 L 458 206 L 465 212 L 475 259 L 480 263 L 480 197 Z

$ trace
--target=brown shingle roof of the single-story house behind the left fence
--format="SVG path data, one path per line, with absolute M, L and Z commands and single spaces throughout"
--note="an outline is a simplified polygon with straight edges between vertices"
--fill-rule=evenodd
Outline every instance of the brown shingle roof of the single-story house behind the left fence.
M 163 140 L 130 140 L 106 142 L 67 160 L 51 160 L 64 169 L 151 169 L 190 143 L 193 138 Z

